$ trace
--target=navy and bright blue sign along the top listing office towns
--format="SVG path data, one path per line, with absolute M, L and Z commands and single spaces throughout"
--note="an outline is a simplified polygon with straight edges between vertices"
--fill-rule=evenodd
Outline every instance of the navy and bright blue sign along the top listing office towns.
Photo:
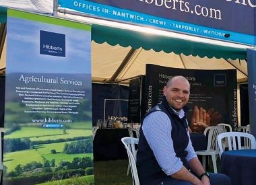
M 255 45 L 255 0 L 59 0 L 110 20 Z

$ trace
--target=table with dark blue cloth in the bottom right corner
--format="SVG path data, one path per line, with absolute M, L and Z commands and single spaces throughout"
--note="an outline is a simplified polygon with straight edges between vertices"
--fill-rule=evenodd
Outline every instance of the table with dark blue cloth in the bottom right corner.
M 224 151 L 221 173 L 230 177 L 232 185 L 255 185 L 256 149 Z

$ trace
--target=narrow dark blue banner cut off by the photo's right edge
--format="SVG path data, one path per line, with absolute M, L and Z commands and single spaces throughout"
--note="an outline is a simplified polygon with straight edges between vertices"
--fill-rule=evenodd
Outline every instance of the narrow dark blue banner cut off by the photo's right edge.
M 251 134 L 256 137 L 256 50 L 247 50 L 249 120 Z

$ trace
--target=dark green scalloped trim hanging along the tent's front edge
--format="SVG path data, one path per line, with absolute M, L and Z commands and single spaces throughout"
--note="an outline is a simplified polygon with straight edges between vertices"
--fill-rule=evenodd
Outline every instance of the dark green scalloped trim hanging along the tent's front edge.
M 147 28 L 145 28 L 147 29 Z M 92 25 L 92 40 L 102 44 L 115 46 L 117 44 L 132 48 L 143 48 L 145 50 L 153 49 L 156 52 L 163 50 L 166 53 L 174 52 L 176 54 L 185 54 L 199 57 L 216 57 L 217 59 L 245 59 L 247 50 L 243 48 L 232 48 L 227 46 L 218 46 L 215 44 L 206 44 L 203 42 L 192 42 L 178 38 L 166 36 L 156 36 L 143 34 L 131 30 L 123 30 L 107 26 Z

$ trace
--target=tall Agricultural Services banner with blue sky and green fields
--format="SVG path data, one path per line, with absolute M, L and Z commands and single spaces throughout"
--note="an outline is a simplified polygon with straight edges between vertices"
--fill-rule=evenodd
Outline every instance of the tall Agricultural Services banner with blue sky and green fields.
M 3 184 L 94 182 L 91 26 L 8 9 Z

